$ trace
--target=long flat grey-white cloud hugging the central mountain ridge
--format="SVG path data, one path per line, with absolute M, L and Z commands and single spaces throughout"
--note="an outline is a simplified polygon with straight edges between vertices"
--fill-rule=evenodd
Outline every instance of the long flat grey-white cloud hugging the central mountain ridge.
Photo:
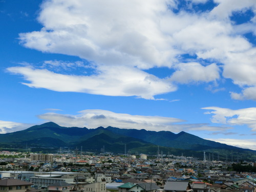
M 184 124 L 185 120 L 172 117 L 120 114 L 105 110 L 83 110 L 78 115 L 45 113 L 38 115 L 38 118 L 45 121 L 54 121 L 62 126 L 78 126 L 89 129 L 99 126 L 114 126 L 121 129 L 145 129 L 148 131 L 171 131 L 175 133 L 181 131 L 223 131 L 230 129 L 229 127 L 209 126 L 206 123 Z

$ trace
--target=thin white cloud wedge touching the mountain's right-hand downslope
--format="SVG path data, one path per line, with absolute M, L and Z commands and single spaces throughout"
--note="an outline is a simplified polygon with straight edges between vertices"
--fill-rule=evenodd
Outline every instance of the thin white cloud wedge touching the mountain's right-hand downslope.
M 207 140 L 216 141 L 220 143 L 225 143 L 227 145 L 237 146 L 241 148 L 248 148 L 250 150 L 256 150 L 256 141 L 255 139 L 209 139 Z

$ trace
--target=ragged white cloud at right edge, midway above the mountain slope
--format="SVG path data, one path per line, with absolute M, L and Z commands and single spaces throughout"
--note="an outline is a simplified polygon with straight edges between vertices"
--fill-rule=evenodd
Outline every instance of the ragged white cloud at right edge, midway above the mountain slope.
M 256 108 L 231 110 L 211 106 L 202 109 L 209 110 L 205 114 L 212 115 L 211 122 L 213 123 L 247 125 L 251 131 L 256 131 Z

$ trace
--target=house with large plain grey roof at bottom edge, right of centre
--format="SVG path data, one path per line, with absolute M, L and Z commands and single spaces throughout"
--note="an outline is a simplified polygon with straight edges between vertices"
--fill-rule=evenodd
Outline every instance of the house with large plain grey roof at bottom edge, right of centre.
M 193 191 L 188 181 L 167 181 L 163 190 L 165 192 Z

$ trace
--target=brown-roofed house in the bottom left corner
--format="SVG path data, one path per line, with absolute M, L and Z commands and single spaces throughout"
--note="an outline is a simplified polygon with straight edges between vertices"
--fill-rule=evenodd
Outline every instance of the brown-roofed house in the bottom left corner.
M 33 183 L 19 179 L 2 179 L 0 180 L 0 192 L 25 192 L 31 189 L 31 185 L 33 185 Z

